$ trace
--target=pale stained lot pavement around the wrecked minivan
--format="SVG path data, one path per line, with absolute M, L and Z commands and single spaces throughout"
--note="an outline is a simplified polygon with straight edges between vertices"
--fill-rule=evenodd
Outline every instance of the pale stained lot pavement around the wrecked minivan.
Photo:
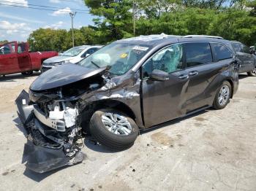
M 144 132 L 123 152 L 85 140 L 83 163 L 35 174 L 14 101 L 36 77 L 0 77 L 0 190 L 256 190 L 256 77 L 240 76 L 225 109 Z

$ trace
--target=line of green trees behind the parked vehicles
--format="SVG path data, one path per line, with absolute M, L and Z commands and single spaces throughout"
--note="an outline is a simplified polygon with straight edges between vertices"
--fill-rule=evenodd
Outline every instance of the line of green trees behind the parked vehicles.
M 256 42 L 255 0 L 84 0 L 94 26 L 75 29 L 75 45 L 108 44 L 136 35 L 208 34 L 251 45 Z M 72 31 L 39 28 L 29 36 L 31 50 L 64 51 Z

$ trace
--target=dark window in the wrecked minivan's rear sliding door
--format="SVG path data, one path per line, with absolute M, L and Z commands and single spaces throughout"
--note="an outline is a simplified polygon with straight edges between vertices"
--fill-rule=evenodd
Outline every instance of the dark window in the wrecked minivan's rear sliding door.
M 212 62 L 211 47 L 208 42 L 184 44 L 187 67 Z

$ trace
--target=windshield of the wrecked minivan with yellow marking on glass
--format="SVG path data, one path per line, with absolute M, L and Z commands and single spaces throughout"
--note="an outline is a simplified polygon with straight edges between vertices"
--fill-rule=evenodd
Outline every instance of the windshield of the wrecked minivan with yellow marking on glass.
M 93 69 L 109 66 L 110 73 L 121 75 L 131 69 L 148 50 L 146 45 L 114 42 L 80 61 L 80 66 Z

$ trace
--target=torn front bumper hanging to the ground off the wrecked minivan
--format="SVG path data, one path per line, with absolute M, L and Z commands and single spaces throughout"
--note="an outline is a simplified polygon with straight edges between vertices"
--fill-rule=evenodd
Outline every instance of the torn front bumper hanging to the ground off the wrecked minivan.
M 69 144 L 62 136 L 62 133 L 66 133 L 61 132 L 65 130 L 63 121 L 50 120 L 39 111 L 37 105 L 29 105 L 29 93 L 23 90 L 15 102 L 18 117 L 28 134 L 24 147 L 27 168 L 44 173 L 80 163 L 86 158 L 75 144 Z

